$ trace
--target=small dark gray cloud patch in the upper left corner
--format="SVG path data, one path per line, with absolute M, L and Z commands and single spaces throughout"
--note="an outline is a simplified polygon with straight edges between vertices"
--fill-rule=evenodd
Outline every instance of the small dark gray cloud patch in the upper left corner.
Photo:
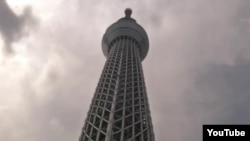
M 32 9 L 26 7 L 22 15 L 16 15 L 5 0 L 0 1 L 0 32 L 5 42 L 5 50 L 12 52 L 11 44 L 27 34 L 25 27 L 31 27 L 37 22 L 32 15 Z

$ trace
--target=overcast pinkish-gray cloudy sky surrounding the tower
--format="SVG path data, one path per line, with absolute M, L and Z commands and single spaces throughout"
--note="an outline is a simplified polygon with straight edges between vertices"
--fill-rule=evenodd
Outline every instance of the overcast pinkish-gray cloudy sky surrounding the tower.
M 0 0 L 0 140 L 76 141 L 106 28 L 133 9 L 157 141 L 250 124 L 249 0 Z

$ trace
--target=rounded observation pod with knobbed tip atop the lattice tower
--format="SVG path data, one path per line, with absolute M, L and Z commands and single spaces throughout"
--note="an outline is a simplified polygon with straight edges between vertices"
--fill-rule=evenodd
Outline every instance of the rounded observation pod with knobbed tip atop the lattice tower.
M 131 37 L 138 43 L 141 60 L 147 56 L 149 49 L 147 33 L 136 23 L 136 20 L 131 18 L 131 14 L 132 10 L 130 8 L 125 9 L 125 17 L 113 23 L 106 30 L 102 38 L 102 51 L 105 57 L 108 57 L 111 43 L 121 36 Z

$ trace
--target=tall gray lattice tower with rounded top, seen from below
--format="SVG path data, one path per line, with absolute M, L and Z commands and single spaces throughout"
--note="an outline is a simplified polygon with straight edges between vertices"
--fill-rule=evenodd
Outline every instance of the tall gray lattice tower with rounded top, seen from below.
M 149 41 L 131 14 L 127 8 L 103 36 L 107 60 L 80 141 L 154 141 L 141 64 Z

